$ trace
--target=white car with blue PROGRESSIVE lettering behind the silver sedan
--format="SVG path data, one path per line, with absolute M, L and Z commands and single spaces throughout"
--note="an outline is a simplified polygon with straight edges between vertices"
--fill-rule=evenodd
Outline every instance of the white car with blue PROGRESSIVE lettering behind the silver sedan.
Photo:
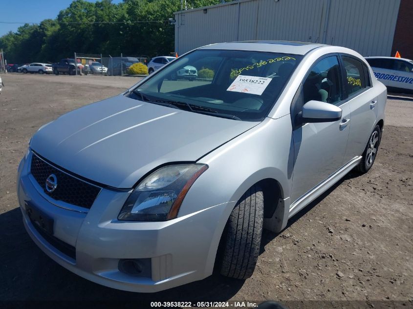
M 395 57 L 366 57 L 375 77 L 390 92 L 413 94 L 413 61 Z

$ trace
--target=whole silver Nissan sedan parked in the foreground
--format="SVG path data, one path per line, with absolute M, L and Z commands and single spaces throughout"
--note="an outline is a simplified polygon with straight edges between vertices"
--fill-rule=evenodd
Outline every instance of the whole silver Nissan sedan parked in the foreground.
M 191 65 L 196 79 L 171 78 Z M 24 226 L 96 283 L 155 292 L 246 279 L 279 232 L 380 144 L 386 87 L 357 52 L 218 43 L 32 137 L 18 169 Z M 218 247 L 220 248 L 218 250 Z

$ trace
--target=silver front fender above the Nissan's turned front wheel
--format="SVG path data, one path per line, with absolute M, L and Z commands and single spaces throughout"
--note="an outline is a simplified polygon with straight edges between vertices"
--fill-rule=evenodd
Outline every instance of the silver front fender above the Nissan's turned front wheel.
M 198 163 L 207 164 L 209 168 L 189 190 L 178 216 L 222 203 L 237 202 L 248 188 L 267 178 L 275 179 L 281 186 L 283 198 L 288 197 L 293 154 L 289 115 L 279 119 L 266 118 L 261 124 L 198 160 Z M 229 216 L 231 210 L 225 213 Z M 227 219 L 222 218 L 225 222 Z

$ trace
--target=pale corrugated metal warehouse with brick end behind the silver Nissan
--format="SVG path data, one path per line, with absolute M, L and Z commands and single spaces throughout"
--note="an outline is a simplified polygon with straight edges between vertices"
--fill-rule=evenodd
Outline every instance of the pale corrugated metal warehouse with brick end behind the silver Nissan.
M 310 41 L 413 59 L 413 0 L 238 0 L 174 13 L 175 51 L 228 41 Z

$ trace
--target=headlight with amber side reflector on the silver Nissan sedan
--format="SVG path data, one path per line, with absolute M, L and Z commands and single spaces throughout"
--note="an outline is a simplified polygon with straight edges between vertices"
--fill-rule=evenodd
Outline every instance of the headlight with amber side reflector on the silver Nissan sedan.
M 133 191 L 119 213 L 119 220 L 166 221 L 176 218 L 179 207 L 204 164 L 179 164 L 159 168 Z

